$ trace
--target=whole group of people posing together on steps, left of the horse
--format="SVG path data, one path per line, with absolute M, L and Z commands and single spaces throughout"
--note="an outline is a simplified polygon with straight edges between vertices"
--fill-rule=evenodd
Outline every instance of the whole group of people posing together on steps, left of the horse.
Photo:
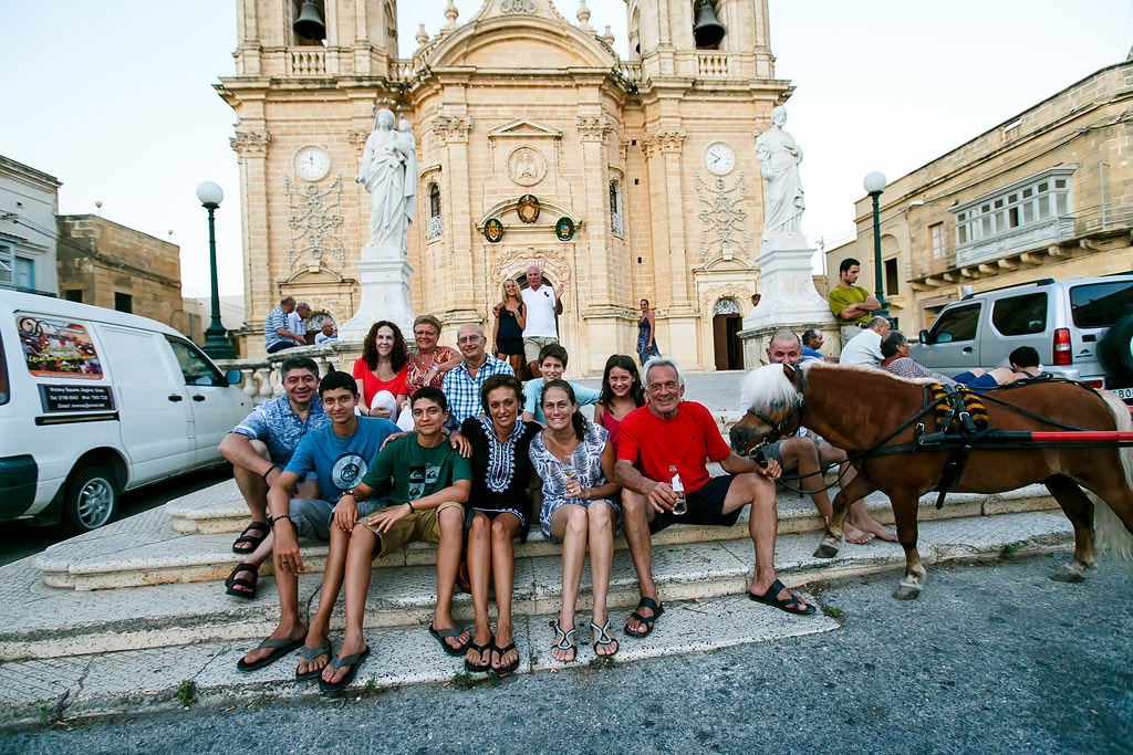
M 815 612 L 775 575 L 778 462 L 761 466 L 732 452 L 710 412 L 683 401 L 684 377 L 674 360 L 656 357 L 639 374 L 632 358 L 615 354 L 602 387 L 588 389 L 561 378 L 566 351 L 548 343 L 538 354 L 540 376 L 525 386 L 511 364 L 486 352 L 478 325 L 459 328 L 459 354 L 436 345 L 440 332 L 435 318 L 418 318 L 417 350 L 404 354 L 397 326 L 376 324 L 359 360 L 376 371 L 370 377 L 356 364 L 353 375 L 332 371 L 320 379 L 312 360 L 284 360 L 283 395 L 256 406 L 222 441 L 253 514 L 233 544 L 244 563 L 227 591 L 254 597 L 259 565 L 271 557 L 281 614 L 271 636 L 240 659 L 240 670 L 301 649 L 297 679 L 317 679 L 324 692 L 349 685 L 370 652 L 363 620 L 372 561 L 411 541 L 437 547 L 428 630 L 440 647 L 461 657 L 469 671 L 514 670 L 513 542 L 526 540 L 535 522 L 562 546 L 562 601 L 550 642 L 560 662 L 577 655 L 576 604 L 587 552 L 594 651 L 611 657 L 619 650 L 606 609 L 619 530 L 641 595 L 624 624 L 629 637 L 647 636 L 664 614 L 650 535 L 676 523 L 732 525 L 747 506 L 755 543 L 749 598 Z M 392 405 L 374 401 L 383 391 Z M 579 411 L 585 404 L 596 404 L 594 421 Z M 408 432 L 392 421 L 404 415 Z M 726 474 L 710 477 L 709 462 Z M 330 543 L 317 610 L 307 624 L 298 599 L 301 540 Z M 451 611 L 462 558 L 470 629 Z M 343 589 L 347 628 L 335 652 L 330 617 Z

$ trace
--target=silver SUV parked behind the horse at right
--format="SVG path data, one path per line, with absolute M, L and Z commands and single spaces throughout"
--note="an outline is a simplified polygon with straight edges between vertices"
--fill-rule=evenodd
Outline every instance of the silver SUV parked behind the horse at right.
M 1008 367 L 1033 346 L 1046 372 L 1106 388 L 1133 405 L 1133 274 L 1029 283 L 971 293 L 940 310 L 910 355 L 956 375 Z

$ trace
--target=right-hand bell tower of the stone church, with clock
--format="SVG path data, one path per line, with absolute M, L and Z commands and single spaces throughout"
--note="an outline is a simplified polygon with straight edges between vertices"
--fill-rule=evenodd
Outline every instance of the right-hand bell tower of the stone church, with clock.
M 767 0 L 628 0 L 627 14 L 654 252 L 636 284 L 674 357 L 752 367 L 734 355 L 759 278 L 755 140 L 792 91 L 775 78 Z

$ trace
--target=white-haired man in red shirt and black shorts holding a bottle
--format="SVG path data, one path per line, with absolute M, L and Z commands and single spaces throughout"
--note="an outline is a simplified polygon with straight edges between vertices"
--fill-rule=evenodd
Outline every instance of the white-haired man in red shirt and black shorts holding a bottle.
M 763 467 L 729 448 L 716 421 L 701 404 L 681 401 L 684 376 L 665 357 L 650 359 L 644 371 L 649 403 L 630 412 L 620 426 L 614 475 L 622 486 L 625 541 L 637 569 L 641 601 L 625 624 L 631 637 L 653 632 L 664 612 L 653 582 L 650 534 L 680 522 L 688 524 L 735 523 L 751 505 L 748 532 L 756 546 L 756 573 L 748 589 L 751 600 L 791 614 L 813 614 L 815 607 L 791 593 L 775 576 L 775 483 L 777 462 Z M 726 475 L 712 478 L 707 463 L 719 462 Z M 679 495 L 673 491 L 675 467 L 688 512 L 673 512 Z

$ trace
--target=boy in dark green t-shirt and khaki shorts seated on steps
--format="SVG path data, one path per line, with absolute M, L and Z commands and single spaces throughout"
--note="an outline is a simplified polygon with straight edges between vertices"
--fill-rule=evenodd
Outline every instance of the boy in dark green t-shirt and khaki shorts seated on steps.
M 416 432 L 392 440 L 378 453 L 366 475 L 343 495 L 365 498 L 382 480 L 392 478 L 392 506 L 358 520 L 347 550 L 347 630 L 339 657 L 323 670 L 320 688 L 334 692 L 348 686 L 369 654 L 361 636 L 366 593 L 375 551 L 377 556 L 414 540 L 440 543 L 436 551 L 436 610 L 432 634 L 444 652 L 463 655 L 471 637 L 452 620 L 452 591 L 463 544 L 465 507 L 471 490 L 468 460 L 449 445 L 444 423 L 449 402 L 437 388 L 424 387 L 410 402 Z M 457 644 L 452 644 L 449 641 Z

